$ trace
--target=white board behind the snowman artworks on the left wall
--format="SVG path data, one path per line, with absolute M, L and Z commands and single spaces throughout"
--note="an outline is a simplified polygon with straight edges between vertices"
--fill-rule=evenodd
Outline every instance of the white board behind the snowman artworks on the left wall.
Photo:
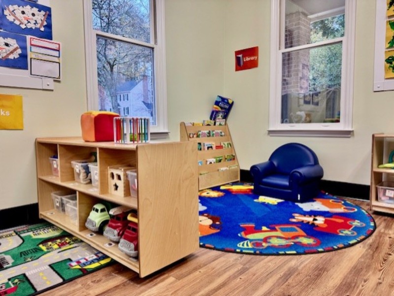
M 26 3 L 29 5 L 28 1 Z M 50 0 L 38 0 L 36 3 L 50 7 Z M 34 2 L 31 5 L 34 5 Z M 5 35 L 8 32 L 0 31 L 0 33 Z M 27 43 L 28 37 L 26 36 Z M 13 68 L 0 66 L 0 86 L 45 90 L 54 89 L 53 78 L 33 77 L 30 75 L 30 69 L 26 69 L 25 67 Z

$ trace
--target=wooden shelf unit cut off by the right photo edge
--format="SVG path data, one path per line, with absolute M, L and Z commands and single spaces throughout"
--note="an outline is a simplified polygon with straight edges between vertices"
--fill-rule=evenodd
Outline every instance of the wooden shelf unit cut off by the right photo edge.
M 394 169 L 380 168 L 380 164 L 388 163 L 389 155 L 394 150 L 394 134 L 374 133 L 372 135 L 372 155 L 371 155 L 371 185 L 369 193 L 370 209 L 384 213 L 394 214 L 394 196 L 390 200 L 379 198 L 378 186 L 382 182 L 394 184 Z M 390 188 L 391 187 L 391 188 Z M 388 190 L 394 194 L 394 187 Z M 383 188 L 383 186 L 382 186 Z

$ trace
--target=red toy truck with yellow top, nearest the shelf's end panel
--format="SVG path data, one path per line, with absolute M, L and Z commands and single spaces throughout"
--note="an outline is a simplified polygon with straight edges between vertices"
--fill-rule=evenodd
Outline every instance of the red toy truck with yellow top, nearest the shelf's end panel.
M 119 241 L 118 248 L 130 257 L 138 256 L 138 220 L 134 213 L 130 213 L 127 219 L 130 221 L 125 233 Z

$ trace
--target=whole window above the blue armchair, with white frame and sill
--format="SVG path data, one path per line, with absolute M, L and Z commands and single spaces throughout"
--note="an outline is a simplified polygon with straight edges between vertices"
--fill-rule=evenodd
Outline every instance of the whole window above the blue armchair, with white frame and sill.
M 352 133 L 355 0 L 271 0 L 270 135 Z

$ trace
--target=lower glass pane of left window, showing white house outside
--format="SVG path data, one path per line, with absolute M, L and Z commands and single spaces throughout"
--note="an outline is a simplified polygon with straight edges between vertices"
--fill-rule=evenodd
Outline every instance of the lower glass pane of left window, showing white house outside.
M 153 49 L 97 38 L 99 108 L 156 125 Z

